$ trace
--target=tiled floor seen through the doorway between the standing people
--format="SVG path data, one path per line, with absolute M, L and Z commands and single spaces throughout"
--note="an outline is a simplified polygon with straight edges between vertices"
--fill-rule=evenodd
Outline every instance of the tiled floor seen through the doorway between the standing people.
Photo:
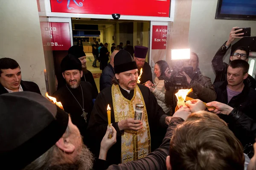
M 97 60 L 97 67 L 98 68 L 94 68 L 93 65 L 93 61 L 94 61 L 94 57 L 92 53 L 85 53 L 86 54 L 86 66 L 87 66 L 87 70 L 89 70 L 90 72 L 92 72 L 93 76 L 97 75 L 97 78 L 94 78 L 95 83 L 97 85 L 98 91 L 99 91 L 99 74 L 102 73 L 102 71 L 99 69 L 99 61 Z

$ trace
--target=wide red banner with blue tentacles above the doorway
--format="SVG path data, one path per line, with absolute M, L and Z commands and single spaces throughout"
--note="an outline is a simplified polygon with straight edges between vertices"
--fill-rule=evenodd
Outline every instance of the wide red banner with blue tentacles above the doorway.
M 171 0 L 50 0 L 52 12 L 169 17 Z

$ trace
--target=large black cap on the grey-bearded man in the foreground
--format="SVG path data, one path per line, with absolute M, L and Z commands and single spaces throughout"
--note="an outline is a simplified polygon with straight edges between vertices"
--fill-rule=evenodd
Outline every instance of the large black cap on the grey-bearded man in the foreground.
M 2 94 L 0 108 L 3 169 L 23 169 L 49 150 L 67 129 L 68 114 L 40 94 Z

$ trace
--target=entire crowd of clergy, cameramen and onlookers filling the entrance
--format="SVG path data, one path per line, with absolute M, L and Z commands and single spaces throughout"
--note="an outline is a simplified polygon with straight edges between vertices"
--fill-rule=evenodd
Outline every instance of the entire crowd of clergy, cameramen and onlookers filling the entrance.
M 223 62 L 234 40 L 242 38 L 235 28 L 212 59 L 213 84 L 201 73 L 194 52 L 177 73 L 175 66 L 157 61 L 153 82 L 147 47 L 112 44 L 109 57 L 108 43 L 95 42 L 93 66 L 99 58 L 102 69 L 98 94 L 86 55 L 74 45 L 61 61 L 62 78 L 52 95 L 63 108 L 42 96 L 35 82 L 21 80 L 22 68 L 14 59 L 1 58 L 3 169 L 256 169 L 256 80 L 248 74 L 249 50 L 238 47 L 230 62 Z M 177 75 L 184 80 L 182 88 L 193 91 L 175 112 L 174 94 L 181 88 Z M 138 104 L 142 116 L 134 119 Z

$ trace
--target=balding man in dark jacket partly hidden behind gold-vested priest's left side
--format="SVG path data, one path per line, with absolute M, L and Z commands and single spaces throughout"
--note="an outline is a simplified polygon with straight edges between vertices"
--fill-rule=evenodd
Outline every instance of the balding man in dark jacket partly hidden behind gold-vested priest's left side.
M 115 76 L 114 71 L 114 57 L 118 51 L 115 50 L 110 56 L 110 63 L 107 67 L 102 71 L 102 74 L 99 78 L 99 89 L 102 91 L 104 88 L 111 86 L 113 84 L 112 79 Z

